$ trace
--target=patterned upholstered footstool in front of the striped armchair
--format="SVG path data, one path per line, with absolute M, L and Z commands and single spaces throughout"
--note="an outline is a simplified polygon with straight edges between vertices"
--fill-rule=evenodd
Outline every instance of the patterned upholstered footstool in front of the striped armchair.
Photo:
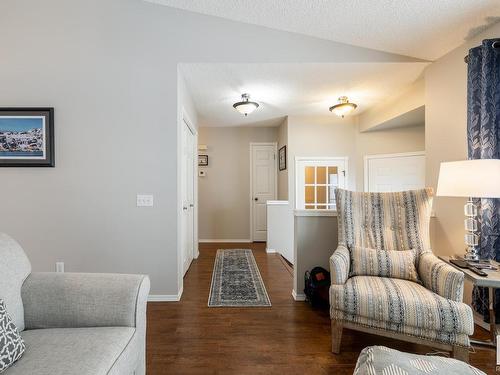
M 456 359 L 418 355 L 369 346 L 361 351 L 354 375 L 486 375 L 484 372 Z

